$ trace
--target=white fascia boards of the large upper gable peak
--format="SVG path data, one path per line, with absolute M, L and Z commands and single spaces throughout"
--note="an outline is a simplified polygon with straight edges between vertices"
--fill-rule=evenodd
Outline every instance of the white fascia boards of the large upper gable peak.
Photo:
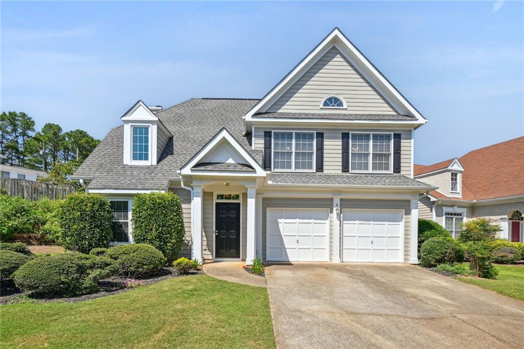
M 289 87 L 296 82 L 313 64 L 320 59 L 331 47 L 335 46 L 348 61 L 357 66 L 357 70 L 365 75 L 367 80 L 381 92 L 397 111 L 407 111 L 417 118 L 417 124 L 427 122 L 415 107 L 413 107 L 402 94 L 381 74 L 378 69 L 348 40 L 339 28 L 322 40 L 291 72 L 286 75 L 262 100 L 260 100 L 244 116 L 246 122 L 252 121 L 254 114 L 264 112 L 272 105 Z M 359 69 L 360 68 L 360 69 Z

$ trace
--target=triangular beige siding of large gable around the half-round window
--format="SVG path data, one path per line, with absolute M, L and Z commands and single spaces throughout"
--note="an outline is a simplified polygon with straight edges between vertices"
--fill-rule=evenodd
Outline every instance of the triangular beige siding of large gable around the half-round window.
M 331 94 L 341 96 L 347 110 L 321 109 L 321 101 Z M 397 114 L 335 47 L 280 96 L 268 112 Z

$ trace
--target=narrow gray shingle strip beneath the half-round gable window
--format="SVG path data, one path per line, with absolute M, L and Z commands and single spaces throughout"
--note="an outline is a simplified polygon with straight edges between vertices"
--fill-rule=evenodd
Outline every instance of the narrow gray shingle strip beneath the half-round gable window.
M 409 115 L 398 114 L 314 114 L 314 113 L 262 113 L 253 115 L 253 118 L 283 118 L 283 119 L 330 119 L 330 120 L 388 120 L 388 121 L 413 121 Z

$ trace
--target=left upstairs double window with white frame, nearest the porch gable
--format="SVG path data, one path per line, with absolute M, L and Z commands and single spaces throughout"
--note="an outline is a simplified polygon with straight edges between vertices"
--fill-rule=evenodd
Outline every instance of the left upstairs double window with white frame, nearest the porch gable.
M 314 171 L 314 132 L 274 132 L 275 171 Z

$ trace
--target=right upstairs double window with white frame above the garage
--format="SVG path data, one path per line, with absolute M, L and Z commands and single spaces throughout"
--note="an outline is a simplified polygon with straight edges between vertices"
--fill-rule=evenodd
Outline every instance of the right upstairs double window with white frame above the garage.
M 352 133 L 352 172 L 391 172 L 391 134 Z

